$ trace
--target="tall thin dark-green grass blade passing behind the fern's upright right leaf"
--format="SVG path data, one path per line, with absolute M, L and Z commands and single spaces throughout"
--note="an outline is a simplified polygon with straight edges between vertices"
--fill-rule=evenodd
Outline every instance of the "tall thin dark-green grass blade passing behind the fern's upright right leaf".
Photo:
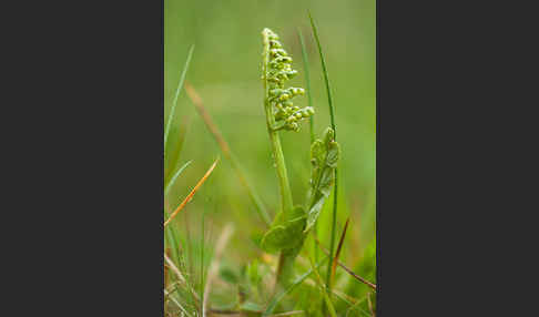
M 337 141 L 337 129 L 335 126 L 335 106 L 333 104 L 333 98 L 332 98 L 332 89 L 329 86 L 329 76 L 327 74 L 327 68 L 326 68 L 326 61 L 324 59 L 324 53 L 322 52 L 322 45 L 321 45 L 321 39 L 318 38 L 318 30 L 316 28 L 316 24 L 313 20 L 313 17 L 311 16 L 311 12 L 308 12 L 308 18 L 311 20 L 311 27 L 313 28 L 313 34 L 316 40 L 316 44 L 318 45 L 318 52 L 321 54 L 321 61 L 322 61 L 322 70 L 324 73 L 324 81 L 326 83 L 326 90 L 327 90 L 327 103 L 329 105 L 329 115 L 332 120 L 332 129 L 334 131 L 334 140 Z M 338 178 L 337 178 L 337 170 L 335 168 L 335 185 L 334 185 L 334 197 L 333 197 L 333 217 L 332 217 L 332 242 L 329 245 L 329 258 L 333 258 L 333 253 L 335 248 L 335 226 L 337 223 L 337 193 L 338 193 Z M 327 273 L 326 273 L 326 286 L 328 289 L 328 293 L 332 294 L 332 266 L 327 266 Z

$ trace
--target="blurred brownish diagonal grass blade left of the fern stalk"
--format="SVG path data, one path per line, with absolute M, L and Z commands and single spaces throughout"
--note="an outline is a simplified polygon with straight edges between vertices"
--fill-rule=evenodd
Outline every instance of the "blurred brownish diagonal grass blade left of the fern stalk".
M 237 178 L 242 183 L 242 185 L 245 187 L 247 191 L 247 194 L 253 202 L 253 204 L 256 207 L 256 211 L 258 212 L 258 215 L 266 223 L 266 225 L 270 226 L 271 224 L 271 218 L 270 214 L 267 213 L 266 207 L 262 203 L 262 200 L 260 198 L 258 194 L 254 190 L 254 187 L 251 185 L 251 183 L 247 181 L 247 177 L 243 173 L 242 166 L 240 165 L 240 162 L 235 158 L 234 154 L 231 152 L 231 149 L 226 141 L 223 137 L 223 134 L 221 134 L 221 131 L 218 131 L 217 126 L 213 122 L 212 117 L 207 113 L 206 109 L 204 108 L 204 103 L 202 102 L 202 98 L 199 95 L 196 90 L 191 85 L 189 82 L 185 82 L 185 91 L 187 92 L 187 96 L 191 99 L 193 104 L 196 108 L 196 111 L 199 114 L 202 116 L 202 120 L 206 124 L 207 130 L 212 133 L 215 142 L 217 142 L 218 147 L 221 149 L 221 152 L 223 152 L 223 155 L 231 162 L 232 167 L 236 172 Z

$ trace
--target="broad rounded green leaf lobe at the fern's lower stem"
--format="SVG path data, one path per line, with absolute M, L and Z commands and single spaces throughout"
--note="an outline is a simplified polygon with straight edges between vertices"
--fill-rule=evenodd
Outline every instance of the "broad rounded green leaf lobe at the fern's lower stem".
M 268 253 L 301 247 L 304 239 L 305 211 L 296 206 L 289 213 L 292 219 L 283 221 L 282 214 L 262 238 L 262 248 Z

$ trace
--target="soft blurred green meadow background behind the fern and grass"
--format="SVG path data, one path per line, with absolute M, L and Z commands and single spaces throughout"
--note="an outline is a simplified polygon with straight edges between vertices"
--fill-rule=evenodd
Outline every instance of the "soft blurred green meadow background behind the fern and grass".
M 275 168 L 263 109 L 261 82 L 261 31 L 267 27 L 279 34 L 284 48 L 294 59 L 299 74 L 291 85 L 303 86 L 304 65 L 297 37 L 302 30 L 311 64 L 315 131 L 321 135 L 329 126 L 327 94 L 321 61 L 308 22 L 311 10 L 319 29 L 336 105 L 337 141 L 342 146 L 339 163 L 339 209 L 337 233 L 346 217 L 350 226 L 345 241 L 343 262 L 352 268 L 373 267 L 365 263 L 365 250 L 375 238 L 376 170 L 376 3 L 375 0 L 348 1 L 164 1 L 164 115 L 170 109 L 184 67 L 189 48 L 195 44 L 186 80 L 204 101 L 206 110 L 222 131 L 256 187 L 267 208 L 278 206 Z M 307 105 L 307 98 L 295 103 Z M 171 152 L 181 129 L 186 139 L 177 162 L 167 158 L 166 168 L 192 160 L 169 195 L 173 208 L 221 155 L 185 91 L 177 101 L 171 131 Z M 299 133 L 281 134 L 295 203 L 303 203 L 309 178 L 308 123 Z M 235 224 L 235 234 L 226 260 L 244 264 L 260 254 L 251 236 L 264 228 L 245 190 L 230 162 L 221 155 L 214 173 L 182 211 L 174 225 L 186 222 L 193 232 L 200 227 L 200 215 L 206 211 L 210 237 L 215 237 L 226 222 Z M 167 171 L 166 173 L 169 173 Z M 329 208 L 326 203 L 319 228 L 321 239 L 328 244 Z M 187 218 L 186 218 L 187 217 Z M 213 228 L 213 229 L 212 229 Z M 374 253 L 370 260 L 374 260 Z

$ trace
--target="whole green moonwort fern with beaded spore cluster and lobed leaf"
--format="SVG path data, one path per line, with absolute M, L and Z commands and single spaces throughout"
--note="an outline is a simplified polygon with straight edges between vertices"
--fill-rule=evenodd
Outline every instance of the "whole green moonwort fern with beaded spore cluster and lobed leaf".
M 324 201 L 335 182 L 335 168 L 339 157 L 339 146 L 335 132 L 328 127 L 322 140 L 315 140 L 311 149 L 313 171 L 307 202 L 294 205 L 292 191 L 281 145 L 279 132 L 299 130 L 299 123 L 314 114 L 312 106 L 294 105 L 293 99 L 303 95 L 302 88 L 287 88 L 286 82 L 297 74 L 292 68 L 292 57 L 283 49 L 279 38 L 270 29 L 262 31 L 262 80 L 264 86 L 264 109 L 273 158 L 277 171 L 281 193 L 281 211 L 262 238 L 262 248 L 270 253 L 281 253 L 276 287 L 283 289 L 294 277 L 294 260 L 302 250 L 309 229 L 316 223 Z

